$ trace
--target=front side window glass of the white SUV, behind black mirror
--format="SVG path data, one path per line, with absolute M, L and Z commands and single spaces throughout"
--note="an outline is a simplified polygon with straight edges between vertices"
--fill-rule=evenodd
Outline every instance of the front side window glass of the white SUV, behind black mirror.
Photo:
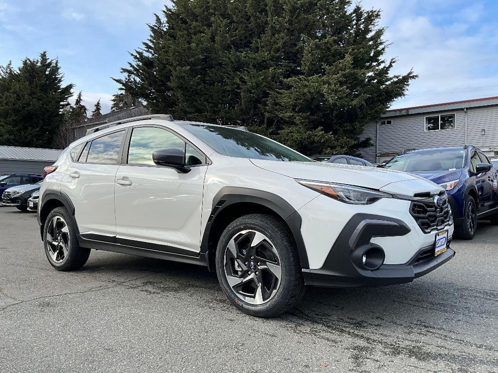
M 178 136 L 157 127 L 133 128 L 128 149 L 128 164 L 154 165 L 152 153 L 159 149 L 184 150 L 185 142 Z

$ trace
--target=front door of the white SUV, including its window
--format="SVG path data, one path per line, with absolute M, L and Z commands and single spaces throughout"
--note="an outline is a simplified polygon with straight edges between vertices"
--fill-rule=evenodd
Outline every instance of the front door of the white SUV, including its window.
M 116 174 L 116 235 L 124 245 L 192 255 L 200 251 L 206 157 L 163 127 L 132 129 Z M 156 166 L 152 153 L 180 149 L 190 172 Z

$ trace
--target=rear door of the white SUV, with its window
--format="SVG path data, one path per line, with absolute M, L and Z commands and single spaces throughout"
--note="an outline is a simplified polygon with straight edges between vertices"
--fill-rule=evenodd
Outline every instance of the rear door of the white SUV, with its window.
M 75 161 L 62 179 L 61 191 L 74 204 L 80 233 L 116 234 L 114 183 L 125 134 L 126 129 L 107 133 L 88 141 L 81 155 L 72 154 Z

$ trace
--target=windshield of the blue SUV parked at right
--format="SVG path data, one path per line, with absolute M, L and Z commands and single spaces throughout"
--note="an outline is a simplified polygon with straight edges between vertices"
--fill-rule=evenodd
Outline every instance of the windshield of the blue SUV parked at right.
M 410 152 L 391 159 L 385 169 L 416 172 L 416 171 L 452 171 L 465 165 L 465 150 L 425 150 Z

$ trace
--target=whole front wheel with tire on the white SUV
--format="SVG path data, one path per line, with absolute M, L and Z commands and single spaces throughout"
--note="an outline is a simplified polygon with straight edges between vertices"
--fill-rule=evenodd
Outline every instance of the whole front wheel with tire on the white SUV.
M 216 252 L 216 272 L 232 304 L 252 316 L 279 315 L 305 291 L 294 240 L 270 215 L 246 215 L 225 229 Z

